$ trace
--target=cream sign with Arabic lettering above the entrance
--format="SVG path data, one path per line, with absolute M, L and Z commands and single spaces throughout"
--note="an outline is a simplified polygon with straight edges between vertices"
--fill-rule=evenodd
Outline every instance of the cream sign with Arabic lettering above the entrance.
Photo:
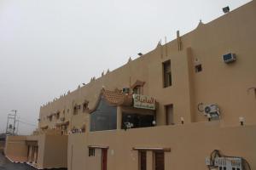
M 141 109 L 155 110 L 155 99 L 140 94 L 133 94 L 133 106 Z

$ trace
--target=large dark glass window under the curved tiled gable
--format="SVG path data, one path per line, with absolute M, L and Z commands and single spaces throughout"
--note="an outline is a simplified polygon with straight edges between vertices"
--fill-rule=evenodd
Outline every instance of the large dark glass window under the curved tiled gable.
M 101 99 L 96 111 L 90 114 L 90 131 L 103 131 L 116 129 L 116 106 L 110 106 Z

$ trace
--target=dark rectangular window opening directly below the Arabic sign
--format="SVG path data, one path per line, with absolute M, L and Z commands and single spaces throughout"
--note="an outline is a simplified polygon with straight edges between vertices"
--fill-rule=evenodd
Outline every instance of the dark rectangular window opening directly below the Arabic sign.
M 142 115 L 137 113 L 122 114 L 122 129 L 153 127 L 154 115 Z M 131 126 L 131 127 L 128 127 Z

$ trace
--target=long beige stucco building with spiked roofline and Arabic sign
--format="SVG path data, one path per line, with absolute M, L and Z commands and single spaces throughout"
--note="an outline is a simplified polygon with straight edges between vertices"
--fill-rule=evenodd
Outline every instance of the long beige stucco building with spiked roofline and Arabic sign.
M 69 170 L 256 168 L 255 19 L 253 0 L 43 105 L 25 159 L 60 167 L 44 147 L 68 136 Z

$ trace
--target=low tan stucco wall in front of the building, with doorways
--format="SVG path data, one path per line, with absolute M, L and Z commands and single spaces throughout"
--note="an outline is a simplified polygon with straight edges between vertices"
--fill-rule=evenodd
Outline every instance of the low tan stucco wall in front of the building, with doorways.
M 165 167 L 168 169 L 206 169 L 205 158 L 212 150 L 220 150 L 226 156 L 242 156 L 256 168 L 256 126 L 222 127 L 219 122 L 201 122 L 185 125 L 148 127 L 140 129 L 69 135 L 69 170 L 99 170 L 101 150 L 96 156 L 88 156 L 88 145 L 108 146 L 108 169 L 137 169 L 137 150 L 133 147 L 166 147 Z M 148 151 L 148 170 L 152 169 L 152 151 Z

